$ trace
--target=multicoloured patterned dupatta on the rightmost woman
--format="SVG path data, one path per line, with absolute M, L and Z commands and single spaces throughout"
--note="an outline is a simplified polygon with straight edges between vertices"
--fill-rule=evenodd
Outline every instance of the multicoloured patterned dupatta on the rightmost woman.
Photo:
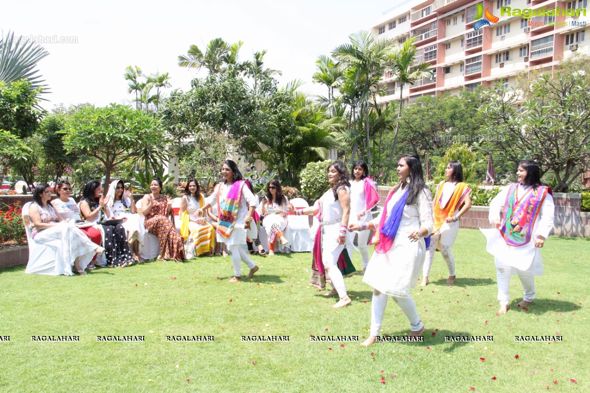
M 500 234 L 504 241 L 513 247 L 530 242 L 533 227 L 549 192 L 549 187 L 546 186 L 531 187 L 523 196 L 516 199 L 518 186 L 519 183 L 514 183 L 508 190 L 508 196 L 504 202 L 504 222 L 500 227 Z

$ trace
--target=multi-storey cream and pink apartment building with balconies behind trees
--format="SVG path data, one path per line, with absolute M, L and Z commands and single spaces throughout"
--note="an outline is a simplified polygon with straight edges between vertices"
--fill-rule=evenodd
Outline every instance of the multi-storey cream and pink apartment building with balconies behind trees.
M 447 91 L 458 94 L 463 89 L 500 80 L 512 87 L 520 72 L 555 67 L 559 60 L 576 51 L 588 55 L 587 3 L 588 0 L 405 0 L 384 12 L 371 32 L 376 39 L 394 38 L 399 43 L 417 37 L 414 44 L 419 48 L 418 60 L 430 62 L 434 74 L 405 86 L 402 99 L 413 103 L 422 95 Z M 506 12 L 507 7 L 510 12 Z M 489 10 L 493 17 L 487 18 L 488 23 L 480 22 L 483 27 L 476 25 L 475 29 L 477 21 L 486 19 L 486 14 L 481 15 L 483 10 Z M 536 14 L 541 16 L 533 16 Z M 388 94 L 380 97 L 379 103 L 399 100 L 395 78 L 386 74 L 383 84 Z

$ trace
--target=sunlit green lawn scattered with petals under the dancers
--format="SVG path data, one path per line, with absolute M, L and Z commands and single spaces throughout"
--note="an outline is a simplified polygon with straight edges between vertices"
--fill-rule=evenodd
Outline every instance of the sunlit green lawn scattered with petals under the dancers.
M 24 266 L 0 270 L 0 336 L 10 335 L 0 341 L 0 392 L 590 391 L 590 241 L 551 237 L 535 303 L 528 312 L 516 308 L 522 286 L 513 276 L 511 308 L 503 316 L 496 316 L 496 271 L 483 235 L 461 230 L 454 253 L 455 286 L 444 285 L 447 267 L 437 255 L 434 283 L 414 289 L 424 342 L 371 348 L 310 342 L 310 335 L 328 334 L 362 341 L 372 291 L 360 276 L 346 279 L 353 303 L 330 309 L 337 299 L 309 286 L 309 253 L 257 256 L 257 276 L 238 284 L 227 283 L 229 257 L 75 277 L 25 275 Z M 360 267 L 358 253 L 353 262 Z M 383 330 L 408 331 L 391 300 Z M 444 341 L 459 333 L 494 341 Z M 514 342 L 515 335 L 556 334 L 562 342 Z M 80 341 L 31 342 L 32 335 Z M 145 342 L 97 342 L 97 335 L 143 335 Z M 166 335 L 215 341 L 166 342 Z M 289 335 L 290 341 L 242 342 L 242 335 Z

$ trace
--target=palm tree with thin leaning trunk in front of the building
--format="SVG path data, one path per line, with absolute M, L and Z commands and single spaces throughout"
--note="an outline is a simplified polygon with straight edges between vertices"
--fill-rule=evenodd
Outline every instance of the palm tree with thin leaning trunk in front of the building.
M 404 91 L 404 86 L 406 84 L 413 85 L 415 82 L 422 78 L 430 77 L 432 75 L 432 66 L 428 62 L 417 62 L 416 53 L 418 52 L 418 48 L 415 47 L 414 41 L 416 41 L 416 37 L 408 39 L 404 42 L 401 50 L 395 54 L 392 58 L 391 64 L 389 67 L 391 68 L 391 74 L 397 77 L 399 82 L 399 109 L 398 109 L 398 121 L 395 125 L 395 136 L 394 136 L 394 145 L 391 147 L 391 155 L 389 156 L 389 164 L 388 170 L 385 175 L 385 180 L 389 179 L 389 170 L 391 169 L 391 164 L 394 160 L 395 154 L 395 145 L 398 141 L 398 131 L 399 131 L 399 121 L 402 117 L 402 91 Z

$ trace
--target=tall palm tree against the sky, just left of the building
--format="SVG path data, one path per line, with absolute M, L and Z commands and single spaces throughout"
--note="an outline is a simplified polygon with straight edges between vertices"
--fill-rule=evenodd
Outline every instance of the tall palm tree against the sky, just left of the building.
M 369 102 L 375 95 L 383 94 L 379 82 L 385 74 L 386 65 L 394 55 L 397 43 L 386 38 L 375 41 L 368 31 L 360 31 L 349 36 L 350 44 L 339 45 L 332 51 L 332 57 L 340 60 L 346 67 L 344 78 L 358 86 L 360 98 L 360 120 L 365 120 L 368 164 L 371 166 L 369 149 L 371 132 L 369 130 Z M 362 130 L 362 124 L 359 123 Z

